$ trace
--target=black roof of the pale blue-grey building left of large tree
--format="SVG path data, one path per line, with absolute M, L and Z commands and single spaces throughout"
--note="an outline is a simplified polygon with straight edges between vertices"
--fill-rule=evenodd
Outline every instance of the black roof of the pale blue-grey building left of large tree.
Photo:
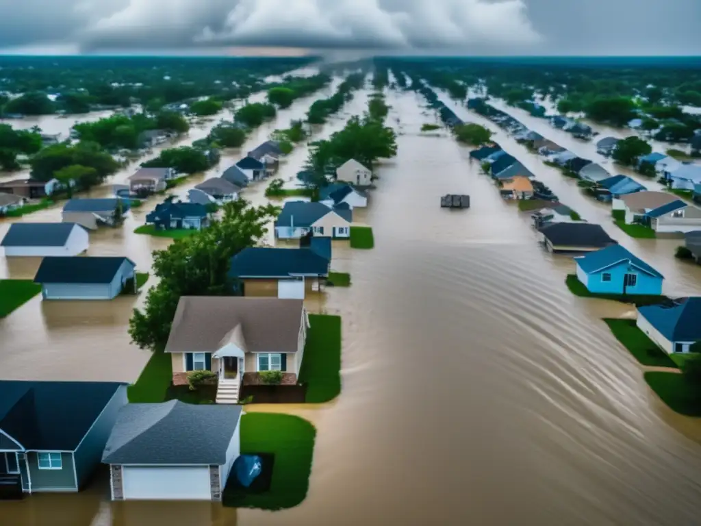
M 128 257 L 44 257 L 34 283 L 110 283 Z

